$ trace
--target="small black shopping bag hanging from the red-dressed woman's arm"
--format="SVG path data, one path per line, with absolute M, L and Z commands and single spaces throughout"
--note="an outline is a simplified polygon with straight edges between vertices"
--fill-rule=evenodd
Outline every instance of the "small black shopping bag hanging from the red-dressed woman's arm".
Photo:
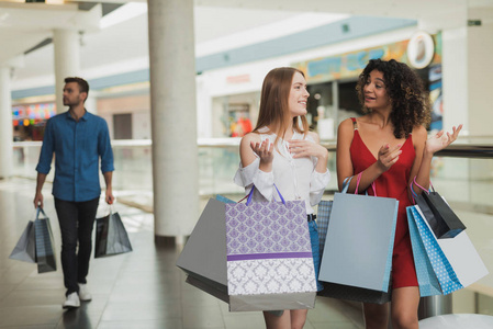
M 437 239 L 453 238 L 466 229 L 463 223 L 435 189 L 430 192 L 424 191 L 415 198 Z

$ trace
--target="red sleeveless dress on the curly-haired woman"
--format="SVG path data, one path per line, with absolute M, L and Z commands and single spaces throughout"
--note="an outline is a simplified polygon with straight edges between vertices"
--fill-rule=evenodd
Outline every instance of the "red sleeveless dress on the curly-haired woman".
M 356 122 L 356 118 L 351 117 L 351 120 L 354 123 Z M 357 127 L 355 128 L 355 136 L 349 150 L 355 174 L 363 171 L 377 161 L 373 154 L 371 154 L 359 136 Z M 399 157 L 397 162 L 374 181 L 377 196 L 399 200 L 397 225 L 395 228 L 394 251 L 392 257 L 393 288 L 418 285 L 406 214 L 406 207 L 411 205 L 411 201 L 407 196 L 407 182 L 416 156 L 411 135 L 404 141 L 401 150 L 402 154 Z M 368 194 L 373 195 L 373 190 L 371 188 L 368 189 Z

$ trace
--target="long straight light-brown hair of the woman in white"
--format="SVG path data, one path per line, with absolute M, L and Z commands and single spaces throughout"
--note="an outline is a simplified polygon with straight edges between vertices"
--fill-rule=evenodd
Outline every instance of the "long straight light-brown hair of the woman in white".
M 304 73 L 299 69 L 280 67 L 269 71 L 264 79 L 260 111 L 254 133 L 259 133 L 261 127 L 268 127 L 270 133 L 277 135 L 274 145 L 277 145 L 279 138 L 282 137 L 284 139 L 290 124 L 289 94 L 295 72 L 301 73 L 304 78 Z M 300 127 L 299 118 L 301 120 L 302 128 Z M 310 127 L 305 115 L 293 117 L 292 124 L 295 132 L 306 136 Z

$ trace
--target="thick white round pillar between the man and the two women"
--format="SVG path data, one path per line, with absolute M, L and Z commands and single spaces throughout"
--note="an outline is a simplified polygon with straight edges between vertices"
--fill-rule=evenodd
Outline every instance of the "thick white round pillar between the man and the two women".
M 190 235 L 199 215 L 193 0 L 148 0 L 155 235 Z

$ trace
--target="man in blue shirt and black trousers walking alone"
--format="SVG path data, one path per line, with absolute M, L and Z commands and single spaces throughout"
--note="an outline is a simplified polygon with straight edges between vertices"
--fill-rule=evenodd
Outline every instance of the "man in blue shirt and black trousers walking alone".
M 53 195 L 61 232 L 61 266 L 67 288 L 64 308 L 80 306 L 92 298 L 87 287 L 91 257 L 91 234 L 101 185 L 98 164 L 107 184 L 105 201 L 113 203 L 111 186 L 113 151 L 107 122 L 86 111 L 89 84 L 81 78 L 66 78 L 64 105 L 68 111 L 46 123 L 43 147 L 36 167 L 34 207 L 43 207 L 42 189 L 55 155 Z M 77 252 L 78 246 L 78 252 Z

